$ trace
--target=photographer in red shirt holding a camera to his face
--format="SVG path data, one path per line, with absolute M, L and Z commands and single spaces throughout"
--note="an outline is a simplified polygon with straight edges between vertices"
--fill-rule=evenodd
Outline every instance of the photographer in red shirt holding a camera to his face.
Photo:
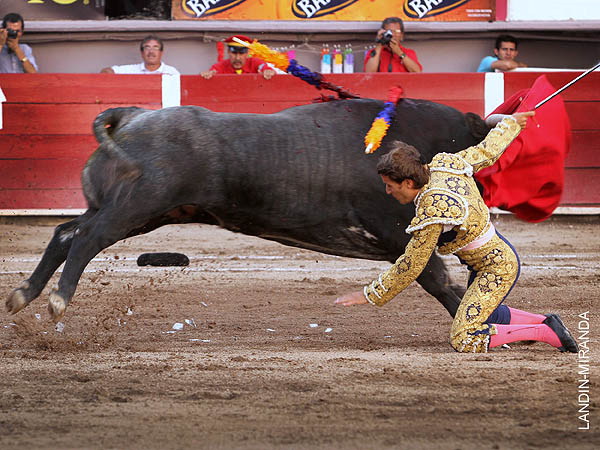
M 375 42 L 377 46 L 367 52 L 365 72 L 421 72 L 423 67 L 417 54 L 402 47 L 404 23 L 399 17 L 388 17 L 381 23 Z

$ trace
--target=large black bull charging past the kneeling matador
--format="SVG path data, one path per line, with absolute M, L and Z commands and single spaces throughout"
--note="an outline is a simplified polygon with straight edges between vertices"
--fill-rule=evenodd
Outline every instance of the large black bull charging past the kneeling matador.
M 276 114 L 184 106 L 116 108 L 94 122 L 98 149 L 82 174 L 88 203 L 56 227 L 42 260 L 7 301 L 16 313 L 66 260 L 49 311 L 59 320 L 90 260 L 115 242 L 173 223 L 205 223 L 282 244 L 395 261 L 410 238 L 413 205 L 386 195 L 376 171 L 394 140 L 425 162 L 479 142 L 484 122 L 433 102 L 402 100 L 378 154 L 364 136 L 383 104 L 343 100 Z M 367 281 L 367 280 L 360 280 Z M 434 255 L 417 279 L 454 316 L 464 293 Z

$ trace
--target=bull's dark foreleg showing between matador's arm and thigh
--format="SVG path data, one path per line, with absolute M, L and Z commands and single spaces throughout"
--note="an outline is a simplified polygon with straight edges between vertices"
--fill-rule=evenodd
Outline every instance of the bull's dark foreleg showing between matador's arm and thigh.
M 465 290 L 452 284 L 448 270 L 441 258 L 435 253 L 431 255 L 417 282 L 429 294 L 433 295 L 446 308 L 452 317 L 460 305 Z

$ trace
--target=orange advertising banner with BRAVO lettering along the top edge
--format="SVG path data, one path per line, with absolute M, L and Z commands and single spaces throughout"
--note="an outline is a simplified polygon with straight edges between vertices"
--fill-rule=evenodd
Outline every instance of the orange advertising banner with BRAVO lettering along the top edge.
M 173 0 L 180 20 L 491 21 L 496 0 Z

